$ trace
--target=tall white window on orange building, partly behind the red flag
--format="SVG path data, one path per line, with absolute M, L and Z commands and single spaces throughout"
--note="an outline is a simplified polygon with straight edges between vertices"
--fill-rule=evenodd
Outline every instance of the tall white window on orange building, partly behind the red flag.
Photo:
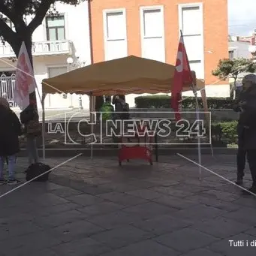
M 179 29 L 182 30 L 191 70 L 204 79 L 202 5 L 179 5 Z

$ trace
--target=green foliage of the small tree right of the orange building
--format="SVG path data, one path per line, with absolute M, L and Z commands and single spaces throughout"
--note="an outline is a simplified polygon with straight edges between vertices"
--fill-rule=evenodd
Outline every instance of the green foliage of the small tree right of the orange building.
M 233 78 L 235 81 L 241 73 L 254 73 L 256 64 L 251 59 L 221 59 L 212 74 L 221 80 Z

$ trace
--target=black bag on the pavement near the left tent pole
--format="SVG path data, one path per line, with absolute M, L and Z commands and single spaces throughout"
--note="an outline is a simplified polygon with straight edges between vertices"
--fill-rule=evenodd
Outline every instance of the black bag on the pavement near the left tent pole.
M 29 181 L 33 179 L 33 182 L 46 182 L 49 179 L 50 166 L 43 163 L 36 163 L 29 165 L 26 172 L 26 180 Z M 44 175 L 41 175 L 45 173 Z M 39 176 L 41 175 L 41 176 Z M 39 176 L 37 179 L 35 177 Z

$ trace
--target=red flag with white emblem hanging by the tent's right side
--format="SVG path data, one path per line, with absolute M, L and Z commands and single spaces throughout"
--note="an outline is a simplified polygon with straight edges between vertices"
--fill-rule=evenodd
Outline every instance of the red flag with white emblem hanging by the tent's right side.
M 176 121 L 181 118 L 179 113 L 179 101 L 181 101 L 182 99 L 181 93 L 183 86 L 188 86 L 192 84 L 193 77 L 188 62 L 188 56 L 185 50 L 183 35 L 181 34 L 176 59 L 176 70 L 173 78 L 173 86 L 171 87 L 171 107 L 174 111 L 178 112 L 175 113 Z

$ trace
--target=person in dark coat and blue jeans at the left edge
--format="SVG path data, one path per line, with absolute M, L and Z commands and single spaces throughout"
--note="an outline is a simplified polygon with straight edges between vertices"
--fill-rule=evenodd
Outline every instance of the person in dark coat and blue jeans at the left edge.
M 0 98 L 0 182 L 17 184 L 15 179 L 16 154 L 20 152 L 19 136 L 22 134 L 20 120 L 10 109 L 5 98 Z M 8 163 L 8 181 L 4 179 L 4 165 Z

